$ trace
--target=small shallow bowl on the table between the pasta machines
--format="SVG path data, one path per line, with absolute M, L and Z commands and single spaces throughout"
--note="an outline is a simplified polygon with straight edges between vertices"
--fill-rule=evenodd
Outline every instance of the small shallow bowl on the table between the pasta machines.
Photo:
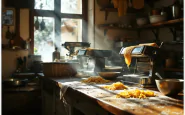
M 105 79 L 116 79 L 121 72 L 98 72 L 99 76 Z

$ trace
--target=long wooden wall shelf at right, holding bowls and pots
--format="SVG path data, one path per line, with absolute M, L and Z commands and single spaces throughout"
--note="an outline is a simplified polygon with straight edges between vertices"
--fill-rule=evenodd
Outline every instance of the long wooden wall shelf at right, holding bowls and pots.
M 154 29 L 154 28 L 160 28 L 160 27 L 174 26 L 176 24 L 183 23 L 183 20 L 184 20 L 184 18 L 180 18 L 180 19 L 168 20 L 168 21 L 164 21 L 164 22 L 159 22 L 159 23 L 155 23 L 155 24 L 148 24 L 148 25 L 134 27 L 134 28 L 121 28 L 118 26 L 110 26 L 111 24 L 100 24 L 100 25 L 98 25 L 98 27 L 100 29 L 120 29 L 120 30 L 136 31 L 136 30 L 142 30 L 142 29 Z

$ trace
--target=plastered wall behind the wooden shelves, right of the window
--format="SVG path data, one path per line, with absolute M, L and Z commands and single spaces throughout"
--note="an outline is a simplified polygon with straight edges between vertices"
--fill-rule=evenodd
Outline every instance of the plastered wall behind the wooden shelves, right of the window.
M 162 8 L 163 6 L 170 6 L 174 3 L 175 0 L 160 0 L 156 2 L 154 7 L 155 8 Z M 98 24 L 106 24 L 106 23 L 114 23 L 118 22 L 120 24 L 129 24 L 134 23 L 135 16 L 128 15 L 118 17 L 117 12 L 110 12 L 108 15 L 107 21 L 105 21 L 105 12 L 100 11 L 100 7 L 96 3 L 95 0 L 95 48 L 101 49 L 112 49 L 113 48 L 113 41 L 110 40 L 115 36 L 129 36 L 135 40 L 147 40 L 147 41 L 154 41 L 155 36 L 151 30 L 141 31 L 141 37 L 138 38 L 137 32 L 125 31 L 125 30 L 108 30 L 107 35 L 104 36 L 104 30 L 99 29 L 97 27 Z M 173 40 L 173 35 L 168 28 L 161 28 L 159 33 L 159 39 L 163 42 L 168 42 Z

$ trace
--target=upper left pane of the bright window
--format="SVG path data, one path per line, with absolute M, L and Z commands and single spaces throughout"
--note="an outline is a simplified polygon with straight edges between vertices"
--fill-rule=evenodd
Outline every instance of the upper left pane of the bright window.
M 54 0 L 35 0 L 35 9 L 54 10 Z

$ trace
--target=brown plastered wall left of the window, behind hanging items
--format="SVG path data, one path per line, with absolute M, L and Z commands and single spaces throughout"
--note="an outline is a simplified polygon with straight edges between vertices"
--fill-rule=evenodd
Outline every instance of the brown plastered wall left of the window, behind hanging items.
M 4 1 L 2 0 L 2 8 L 4 7 Z M 20 36 L 23 39 L 29 38 L 29 10 L 21 9 L 20 10 Z M 7 44 L 8 40 L 5 37 L 7 31 L 7 26 L 2 26 L 2 35 L 1 40 L 2 44 Z M 15 25 L 10 26 L 10 31 L 15 31 Z M 8 78 L 12 75 L 12 73 L 16 70 L 17 57 L 27 56 L 28 51 L 20 50 L 20 51 L 12 51 L 12 50 L 2 50 L 2 78 Z

